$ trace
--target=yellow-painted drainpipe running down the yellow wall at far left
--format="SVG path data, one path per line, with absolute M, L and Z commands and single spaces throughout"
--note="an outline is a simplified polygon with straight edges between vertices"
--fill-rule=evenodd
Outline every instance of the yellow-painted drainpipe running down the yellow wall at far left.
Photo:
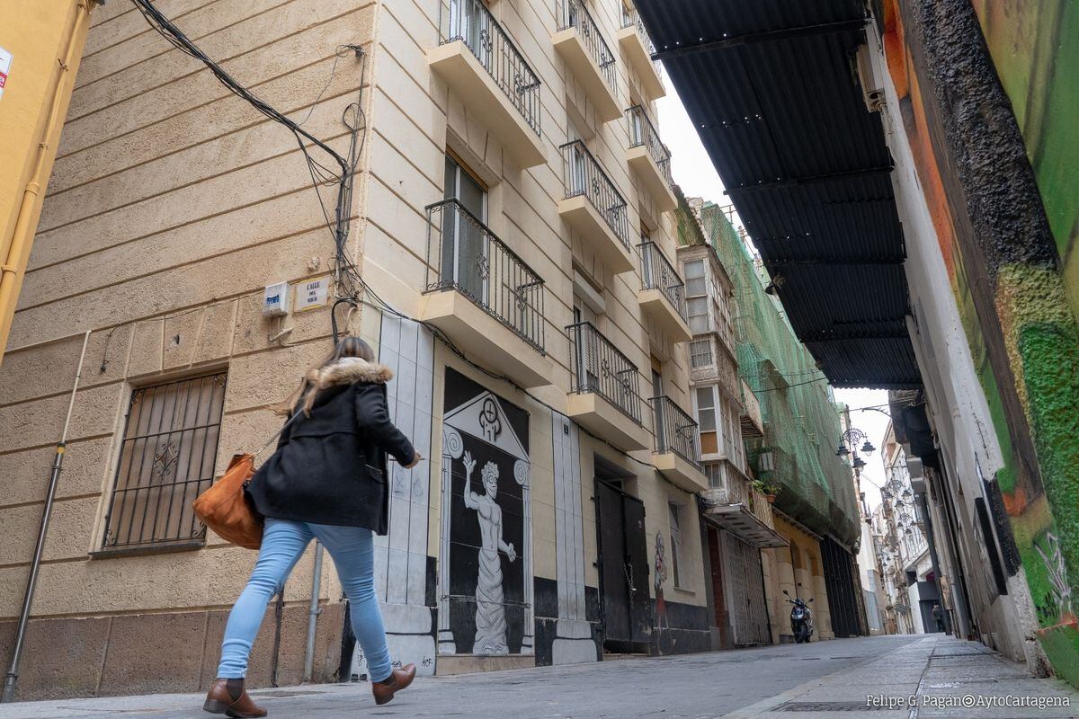
M 30 254 L 30 244 L 33 232 L 38 224 L 38 213 L 41 209 L 41 189 L 49 184 L 49 176 L 52 172 L 53 160 L 56 156 L 56 144 L 59 140 L 59 132 L 64 124 L 64 115 L 67 112 L 68 99 L 71 97 L 71 88 L 74 85 L 74 72 L 70 70 L 78 68 L 79 59 L 82 56 L 82 49 L 85 44 L 86 29 L 90 24 L 91 0 L 79 0 L 76 9 L 74 23 L 68 31 L 65 41 L 66 47 L 63 59 L 57 58 L 57 68 L 54 73 L 55 87 L 52 95 L 52 105 L 49 110 L 47 120 L 38 139 L 37 154 L 33 160 L 33 172 L 30 175 L 26 189 L 23 191 L 23 198 L 18 205 L 15 216 L 15 231 L 12 234 L 11 243 L 6 245 L 6 252 L 0 255 L 0 361 L 3 360 L 3 348 L 8 345 L 8 333 L 11 330 L 11 320 L 15 314 L 15 299 L 18 287 L 22 285 L 23 273 L 26 271 L 26 262 Z

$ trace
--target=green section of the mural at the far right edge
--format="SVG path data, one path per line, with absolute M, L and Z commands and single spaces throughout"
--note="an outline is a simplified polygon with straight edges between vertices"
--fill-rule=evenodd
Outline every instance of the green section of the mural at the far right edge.
M 1023 522 L 1013 521 L 1015 539 L 1043 627 L 1042 647 L 1056 669 L 1077 683 L 1079 2 L 974 0 L 973 6 L 1061 257 L 1058 272 L 1003 268 L 997 303 L 1011 319 L 1006 337 L 1022 368 L 1023 400 L 1046 489 Z

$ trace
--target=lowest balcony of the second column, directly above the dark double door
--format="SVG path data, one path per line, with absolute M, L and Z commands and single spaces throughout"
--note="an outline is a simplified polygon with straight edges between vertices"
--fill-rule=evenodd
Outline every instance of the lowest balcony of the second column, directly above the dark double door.
M 565 332 L 573 364 L 566 415 L 618 450 L 648 448 L 637 365 L 591 322 L 571 324 Z

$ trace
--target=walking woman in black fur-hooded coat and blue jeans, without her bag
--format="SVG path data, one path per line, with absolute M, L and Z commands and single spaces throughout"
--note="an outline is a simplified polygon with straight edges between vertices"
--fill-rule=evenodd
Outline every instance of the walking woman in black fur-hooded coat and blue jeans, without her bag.
M 277 451 L 251 478 L 251 498 L 265 517 L 262 547 L 229 614 L 217 681 L 203 705 L 207 711 L 267 716 L 244 691 L 247 658 L 270 598 L 312 539 L 326 547 L 349 597 L 375 703 L 385 704 L 415 677 L 414 664 L 400 669 L 390 664 L 374 594 L 371 533 L 386 534 L 386 454 L 405 467 L 414 467 L 420 455 L 390 421 L 386 382 L 393 373 L 373 359 L 366 342 L 344 337 L 278 407 L 300 416 L 285 426 Z

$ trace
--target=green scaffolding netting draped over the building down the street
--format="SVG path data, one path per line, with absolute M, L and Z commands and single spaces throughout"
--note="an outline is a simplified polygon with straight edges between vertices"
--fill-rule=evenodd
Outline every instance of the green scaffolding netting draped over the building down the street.
M 685 203 L 679 215 L 680 240 L 710 240 L 734 284 L 738 372 L 764 425 L 763 439 L 747 441 L 754 475 L 779 487 L 775 506 L 782 512 L 852 547 L 858 503 L 850 466 L 835 454 L 843 430 L 831 387 L 782 305 L 764 291 L 768 277 L 723 209 L 706 204 L 700 227 Z

